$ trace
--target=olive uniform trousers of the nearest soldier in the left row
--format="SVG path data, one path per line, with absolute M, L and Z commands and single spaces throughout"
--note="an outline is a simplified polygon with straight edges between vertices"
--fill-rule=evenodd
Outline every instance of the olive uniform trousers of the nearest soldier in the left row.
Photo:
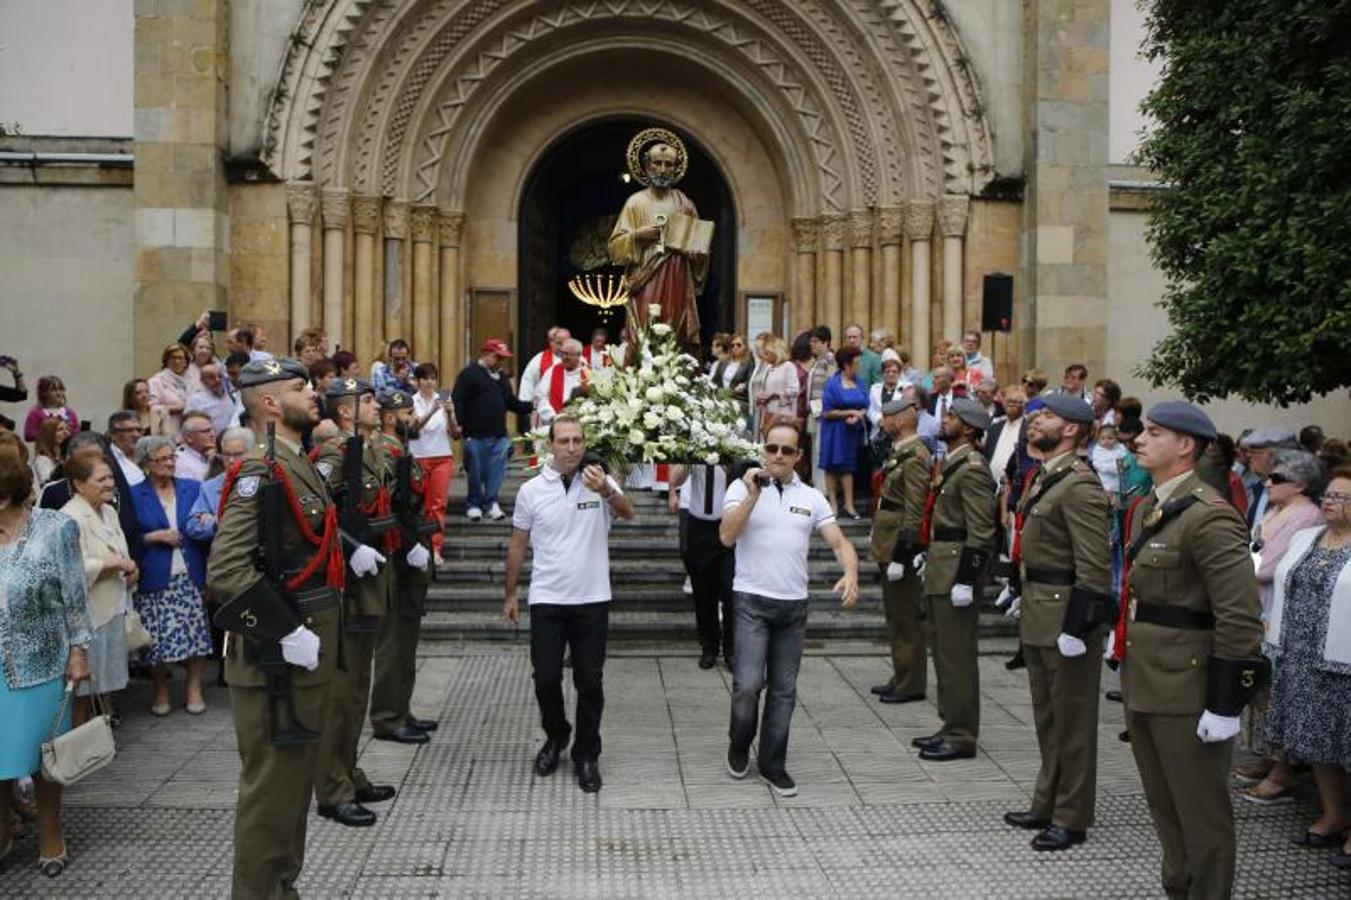
M 332 685 L 293 688 L 296 718 L 326 730 Z M 230 711 L 239 746 L 235 805 L 235 900 L 297 897 L 305 864 L 305 820 L 319 772 L 319 742 L 296 747 L 272 743 L 272 704 L 265 688 L 230 686 Z

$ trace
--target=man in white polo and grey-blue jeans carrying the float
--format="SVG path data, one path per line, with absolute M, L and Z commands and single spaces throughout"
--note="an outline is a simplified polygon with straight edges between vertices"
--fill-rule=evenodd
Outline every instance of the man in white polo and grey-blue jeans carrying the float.
M 724 546 L 736 547 L 732 581 L 736 658 L 727 770 L 734 778 L 744 778 L 750 770 L 759 695 L 767 682 L 757 762 L 761 778 L 781 797 L 797 793 L 797 782 L 785 770 L 785 758 L 807 634 L 807 553 L 812 531 L 821 532 L 844 569 L 834 586 L 842 605 L 858 603 L 858 554 L 835 523 L 821 492 L 802 484 L 793 470 L 800 446 L 796 427 L 778 424 L 769 430 L 765 468 L 753 468 L 728 485 L 719 532 Z

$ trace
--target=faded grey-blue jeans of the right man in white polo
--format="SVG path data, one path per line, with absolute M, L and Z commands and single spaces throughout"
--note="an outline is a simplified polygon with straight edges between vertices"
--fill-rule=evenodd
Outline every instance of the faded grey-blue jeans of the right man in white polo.
M 732 604 L 736 657 L 728 738 L 736 750 L 744 753 L 750 749 L 755 739 L 761 689 L 767 684 L 757 764 L 761 774 L 780 774 L 788 757 L 788 726 L 797 705 L 797 670 L 802 665 L 808 600 L 774 600 L 738 591 Z

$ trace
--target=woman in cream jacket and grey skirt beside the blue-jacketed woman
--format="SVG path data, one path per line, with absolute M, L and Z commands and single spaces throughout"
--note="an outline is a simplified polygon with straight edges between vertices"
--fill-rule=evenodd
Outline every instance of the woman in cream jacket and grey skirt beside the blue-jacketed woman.
M 77 453 L 66 461 L 65 470 L 72 497 L 61 511 L 80 527 L 89 626 L 93 628 L 91 680 L 80 685 L 74 712 L 74 722 L 80 724 L 92 712 L 91 695 L 127 686 L 127 612 L 139 572 L 113 505 L 118 481 L 112 466 L 99 454 Z

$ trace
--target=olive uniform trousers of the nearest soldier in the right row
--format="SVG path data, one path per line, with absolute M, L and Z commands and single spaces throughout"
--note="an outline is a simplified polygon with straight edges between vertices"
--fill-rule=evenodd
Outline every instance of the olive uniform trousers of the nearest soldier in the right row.
M 1154 830 L 1163 845 L 1163 891 L 1170 897 L 1221 900 L 1233 893 L 1233 742 L 1202 743 L 1200 714 L 1128 712 L 1131 751 L 1144 782 Z

